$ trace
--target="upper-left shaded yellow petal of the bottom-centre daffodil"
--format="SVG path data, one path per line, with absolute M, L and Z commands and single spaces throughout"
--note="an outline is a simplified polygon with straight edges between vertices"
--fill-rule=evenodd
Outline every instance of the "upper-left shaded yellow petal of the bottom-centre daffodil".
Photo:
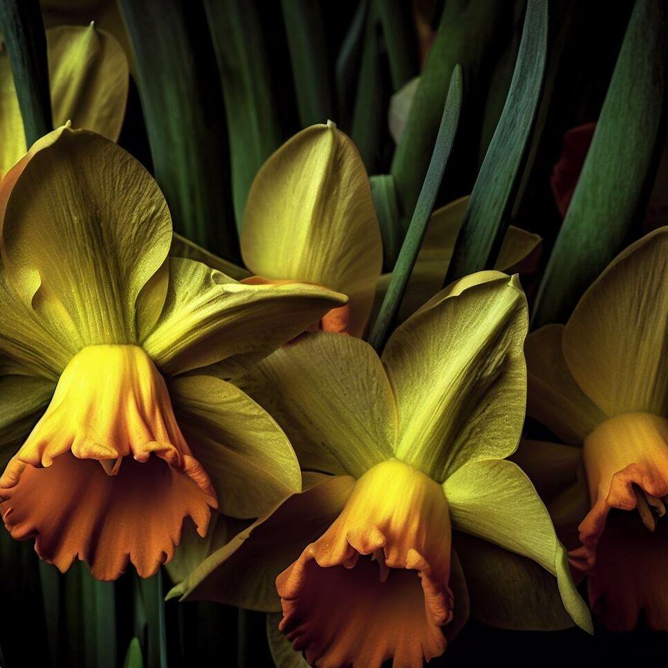
M 392 390 L 378 355 L 364 341 L 305 334 L 239 384 L 275 416 L 302 468 L 358 477 L 392 456 Z

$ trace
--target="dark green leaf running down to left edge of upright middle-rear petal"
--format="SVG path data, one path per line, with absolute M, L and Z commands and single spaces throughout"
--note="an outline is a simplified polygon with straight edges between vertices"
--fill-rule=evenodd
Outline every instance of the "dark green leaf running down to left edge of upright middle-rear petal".
M 276 95 L 255 0 L 204 0 L 204 7 L 225 98 L 232 199 L 241 230 L 250 184 L 281 145 Z

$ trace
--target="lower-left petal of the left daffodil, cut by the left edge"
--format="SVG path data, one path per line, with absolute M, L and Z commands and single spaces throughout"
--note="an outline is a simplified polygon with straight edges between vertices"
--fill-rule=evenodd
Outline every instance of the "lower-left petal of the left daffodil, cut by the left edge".
M 0 377 L 0 469 L 15 454 L 53 394 L 55 383 L 33 375 Z

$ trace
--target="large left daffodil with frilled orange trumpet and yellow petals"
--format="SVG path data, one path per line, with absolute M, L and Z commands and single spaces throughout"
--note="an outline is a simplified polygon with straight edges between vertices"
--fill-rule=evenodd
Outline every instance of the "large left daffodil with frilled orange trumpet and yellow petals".
M 190 518 L 254 518 L 301 486 L 275 421 L 226 378 L 345 298 L 245 286 L 169 256 L 155 181 L 61 127 L 0 187 L 0 512 L 17 539 L 95 577 L 171 559 Z

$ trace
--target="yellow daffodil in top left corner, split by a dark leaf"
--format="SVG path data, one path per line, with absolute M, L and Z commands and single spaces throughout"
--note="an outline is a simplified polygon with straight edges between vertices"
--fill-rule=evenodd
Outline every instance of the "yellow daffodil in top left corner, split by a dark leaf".
M 125 114 L 129 71 L 118 42 L 87 27 L 46 30 L 51 106 L 55 127 L 73 127 L 118 140 Z M 7 50 L 0 48 L 0 178 L 28 147 Z

